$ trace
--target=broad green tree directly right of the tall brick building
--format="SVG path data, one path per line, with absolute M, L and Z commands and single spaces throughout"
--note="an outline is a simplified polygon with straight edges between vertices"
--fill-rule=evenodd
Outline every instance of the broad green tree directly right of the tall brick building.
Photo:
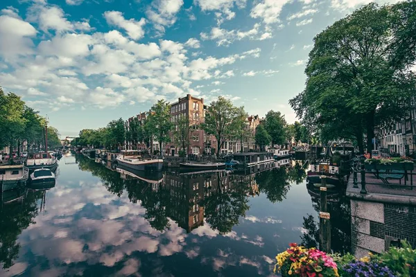
M 207 134 L 215 136 L 218 155 L 225 141 L 235 137 L 238 116 L 239 109 L 234 107 L 230 100 L 222 96 L 219 96 L 218 100 L 211 102 L 211 105 L 207 108 L 202 128 Z

